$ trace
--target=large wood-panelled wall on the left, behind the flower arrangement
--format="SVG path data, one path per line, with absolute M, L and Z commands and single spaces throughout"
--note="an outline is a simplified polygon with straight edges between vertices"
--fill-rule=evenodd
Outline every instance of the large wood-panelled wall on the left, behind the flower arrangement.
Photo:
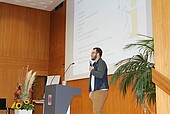
M 48 75 L 49 38 L 50 12 L 0 3 L 0 98 L 8 107 L 23 67 Z

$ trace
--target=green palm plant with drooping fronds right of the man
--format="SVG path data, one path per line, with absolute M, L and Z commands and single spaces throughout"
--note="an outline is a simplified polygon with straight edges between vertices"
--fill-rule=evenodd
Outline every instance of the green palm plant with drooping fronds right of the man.
M 155 104 L 156 102 L 155 84 L 152 82 L 151 70 L 154 68 L 154 63 L 151 62 L 151 58 L 154 56 L 154 42 L 153 37 L 139 35 L 146 37 L 146 39 L 128 44 L 124 48 L 137 47 L 139 54 L 119 61 L 110 83 L 116 85 L 119 82 L 120 91 L 124 96 L 127 93 L 127 88 L 132 86 L 137 104 L 142 105 L 144 113 L 148 110 L 153 114 L 148 103 Z

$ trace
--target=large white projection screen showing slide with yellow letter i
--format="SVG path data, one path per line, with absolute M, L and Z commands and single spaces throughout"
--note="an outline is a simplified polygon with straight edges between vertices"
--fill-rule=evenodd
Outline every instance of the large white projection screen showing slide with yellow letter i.
M 88 66 L 93 47 L 103 50 L 109 73 L 114 64 L 138 52 L 123 47 L 148 34 L 147 0 L 75 0 L 73 3 L 72 61 L 75 62 L 67 80 L 89 76 Z M 69 46 L 68 46 L 69 48 Z M 66 57 L 67 59 L 67 57 Z

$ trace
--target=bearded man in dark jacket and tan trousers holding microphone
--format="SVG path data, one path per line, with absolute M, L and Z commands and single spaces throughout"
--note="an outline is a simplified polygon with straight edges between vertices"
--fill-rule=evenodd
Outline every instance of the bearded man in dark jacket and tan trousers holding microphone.
M 107 65 L 101 58 L 102 50 L 98 47 L 93 48 L 90 64 L 89 98 L 93 103 L 93 113 L 103 114 L 102 108 L 108 95 Z

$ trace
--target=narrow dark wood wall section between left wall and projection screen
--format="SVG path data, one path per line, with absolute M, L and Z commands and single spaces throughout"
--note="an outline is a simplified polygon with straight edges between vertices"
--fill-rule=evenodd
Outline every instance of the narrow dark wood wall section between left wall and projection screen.
M 66 28 L 66 4 L 63 7 L 51 12 L 50 27 L 50 56 L 49 56 L 49 75 L 57 73 L 58 68 L 65 63 L 65 28 Z M 63 77 L 64 66 L 57 73 Z

